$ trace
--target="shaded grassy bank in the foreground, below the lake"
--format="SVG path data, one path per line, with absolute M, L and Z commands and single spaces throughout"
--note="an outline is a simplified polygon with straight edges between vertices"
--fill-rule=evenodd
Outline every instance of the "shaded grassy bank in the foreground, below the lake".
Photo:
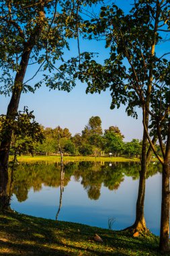
M 144 234 L 134 238 L 71 222 L 55 222 L 18 214 L 0 213 L 0 255 L 161 255 L 159 238 Z M 98 234 L 103 243 L 95 242 Z

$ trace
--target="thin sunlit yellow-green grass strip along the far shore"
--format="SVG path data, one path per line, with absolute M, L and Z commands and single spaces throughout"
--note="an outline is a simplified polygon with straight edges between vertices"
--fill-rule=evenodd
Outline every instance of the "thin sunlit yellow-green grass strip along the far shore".
M 13 157 L 10 156 L 9 160 Z M 17 156 L 18 162 L 60 162 L 60 156 Z M 138 162 L 139 158 L 114 158 L 104 156 L 64 156 L 63 160 L 68 161 L 97 161 L 97 162 Z

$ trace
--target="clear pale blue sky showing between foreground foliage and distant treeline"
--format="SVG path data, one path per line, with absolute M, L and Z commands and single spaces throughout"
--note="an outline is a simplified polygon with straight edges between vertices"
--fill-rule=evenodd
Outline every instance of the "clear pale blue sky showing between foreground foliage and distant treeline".
M 130 6 L 130 0 L 117 0 L 116 3 L 124 8 L 125 11 Z M 111 2 L 109 1 L 108 4 Z M 77 41 L 71 41 L 71 51 L 67 57 L 77 56 Z M 96 42 L 87 40 L 80 42 L 81 52 L 92 51 L 99 53 L 99 61 L 102 62 L 107 57 L 108 52 L 104 47 L 104 42 Z M 26 80 L 36 72 L 36 67 L 31 67 L 26 73 Z M 32 80 L 32 84 L 40 79 L 37 75 Z M 142 119 L 139 112 L 138 120 L 127 117 L 125 107 L 119 110 L 110 110 L 111 96 L 106 91 L 101 94 L 85 94 L 86 86 L 77 82 L 77 86 L 70 92 L 50 91 L 43 86 L 36 91 L 35 94 L 22 94 L 19 104 L 19 110 L 23 110 L 24 106 L 28 106 L 29 110 L 34 110 L 36 121 L 44 125 L 44 127 L 67 127 L 72 135 L 81 133 L 85 125 L 87 125 L 91 116 L 99 116 L 102 121 L 103 129 L 108 129 L 111 125 L 116 125 L 125 136 L 125 141 L 133 138 L 142 139 Z M 1 114 L 5 114 L 9 98 L 0 96 Z

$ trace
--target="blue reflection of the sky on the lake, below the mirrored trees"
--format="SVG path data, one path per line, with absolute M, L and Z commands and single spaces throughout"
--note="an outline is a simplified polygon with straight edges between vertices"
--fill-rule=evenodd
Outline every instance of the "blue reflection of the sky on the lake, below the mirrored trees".
M 114 218 L 113 229 L 122 229 L 134 222 L 138 181 L 124 177 L 124 182 L 116 191 L 101 187 L 98 200 L 88 198 L 81 181 L 72 177 L 62 193 L 62 207 L 58 220 L 80 222 L 91 226 L 108 228 L 108 218 Z M 11 208 L 24 214 L 42 218 L 55 219 L 58 211 L 60 188 L 45 187 L 34 192 L 30 189 L 28 199 L 17 202 L 15 195 L 11 200 Z M 148 228 L 159 234 L 161 212 L 161 174 L 146 181 L 145 218 Z

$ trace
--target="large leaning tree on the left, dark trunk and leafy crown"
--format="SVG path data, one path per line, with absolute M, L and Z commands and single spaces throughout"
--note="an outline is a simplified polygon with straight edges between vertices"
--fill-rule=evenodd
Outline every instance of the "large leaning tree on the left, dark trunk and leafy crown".
M 79 36 L 79 27 L 83 22 L 81 5 L 91 5 L 92 1 L 1 1 L 0 9 L 0 66 L 1 94 L 11 94 L 7 107 L 6 121 L 15 120 L 22 92 L 34 92 L 29 81 L 43 69 L 44 79 L 50 89 L 69 92 L 75 82 L 69 86 L 69 78 L 63 77 L 55 66 L 62 58 L 63 49 L 69 49 L 67 38 Z M 28 65 L 38 65 L 38 70 L 27 82 L 24 82 Z M 54 72 L 53 77 L 46 71 Z M 0 146 L 0 193 L 7 186 L 7 167 L 12 129 L 3 126 Z

